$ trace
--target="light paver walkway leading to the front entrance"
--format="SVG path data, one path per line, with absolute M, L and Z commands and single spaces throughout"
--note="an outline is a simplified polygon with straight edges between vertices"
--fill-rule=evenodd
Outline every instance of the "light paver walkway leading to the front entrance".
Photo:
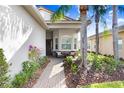
M 50 58 L 34 88 L 66 88 L 64 67 L 61 58 Z

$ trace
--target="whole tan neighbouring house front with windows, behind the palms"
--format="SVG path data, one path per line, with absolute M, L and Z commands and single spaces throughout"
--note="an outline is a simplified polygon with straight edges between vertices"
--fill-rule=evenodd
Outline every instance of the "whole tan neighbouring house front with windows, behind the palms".
M 119 57 L 124 58 L 124 25 L 119 27 Z M 92 35 L 88 38 L 88 50 L 95 51 L 95 35 Z M 104 32 L 99 34 L 99 51 L 102 54 L 113 55 L 113 38 L 112 32 L 108 32 L 107 35 L 104 35 Z

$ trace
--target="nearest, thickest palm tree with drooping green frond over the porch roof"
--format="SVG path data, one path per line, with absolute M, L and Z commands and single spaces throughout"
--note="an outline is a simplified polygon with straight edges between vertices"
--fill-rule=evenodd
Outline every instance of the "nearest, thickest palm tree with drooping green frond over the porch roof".
M 51 20 L 52 22 L 61 20 L 64 18 L 65 13 L 67 13 L 72 6 L 70 5 L 61 5 L 59 9 L 52 15 Z M 87 69 L 87 5 L 80 6 L 80 19 L 81 19 L 81 55 L 82 55 L 82 62 L 80 64 L 80 68 L 82 67 Z

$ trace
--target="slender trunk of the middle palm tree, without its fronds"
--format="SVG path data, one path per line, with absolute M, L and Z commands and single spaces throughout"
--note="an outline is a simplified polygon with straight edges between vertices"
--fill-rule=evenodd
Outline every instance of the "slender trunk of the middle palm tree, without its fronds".
M 96 12 L 95 15 L 95 23 L 96 23 L 96 54 L 99 53 L 99 12 Z

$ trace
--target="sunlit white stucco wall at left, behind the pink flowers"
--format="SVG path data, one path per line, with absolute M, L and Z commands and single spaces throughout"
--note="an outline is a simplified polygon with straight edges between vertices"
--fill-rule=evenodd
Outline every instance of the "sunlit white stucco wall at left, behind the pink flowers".
M 0 48 L 8 63 L 10 75 L 22 70 L 28 60 L 29 45 L 35 45 L 46 55 L 46 32 L 22 6 L 0 6 Z

